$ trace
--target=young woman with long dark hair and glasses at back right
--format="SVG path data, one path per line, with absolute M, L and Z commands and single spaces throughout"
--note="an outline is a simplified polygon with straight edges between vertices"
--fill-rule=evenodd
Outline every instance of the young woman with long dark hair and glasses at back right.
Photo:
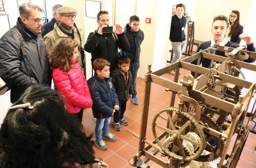
M 241 39 L 239 35 L 243 33 L 244 27 L 239 23 L 240 20 L 240 13 L 237 10 L 232 10 L 229 15 L 229 24 L 226 33 L 226 39 L 233 42 L 240 44 Z

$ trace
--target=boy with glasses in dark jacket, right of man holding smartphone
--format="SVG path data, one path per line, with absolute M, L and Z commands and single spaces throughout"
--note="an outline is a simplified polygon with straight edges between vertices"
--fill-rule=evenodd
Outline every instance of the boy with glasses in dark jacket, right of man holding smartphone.
M 130 70 L 132 73 L 133 95 L 131 100 L 134 104 L 139 104 L 136 91 L 136 78 L 140 67 L 140 45 L 144 40 L 144 33 L 140 30 L 140 19 L 133 15 L 130 17 L 130 23 L 124 27 L 124 34 L 131 44 L 129 51 L 120 50 L 121 55 L 128 55 L 131 59 Z

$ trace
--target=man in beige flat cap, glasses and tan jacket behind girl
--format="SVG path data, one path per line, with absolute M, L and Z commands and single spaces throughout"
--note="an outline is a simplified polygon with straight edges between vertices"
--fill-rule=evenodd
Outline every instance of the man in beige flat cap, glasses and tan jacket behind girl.
M 78 43 L 78 63 L 83 67 L 81 58 L 81 43 L 77 34 L 77 29 L 74 26 L 77 11 L 71 7 L 61 7 L 57 10 L 59 21 L 54 24 L 54 30 L 45 35 L 44 40 L 48 57 L 51 57 L 51 52 L 55 42 L 60 38 L 71 38 Z M 83 56 L 83 55 L 82 55 Z

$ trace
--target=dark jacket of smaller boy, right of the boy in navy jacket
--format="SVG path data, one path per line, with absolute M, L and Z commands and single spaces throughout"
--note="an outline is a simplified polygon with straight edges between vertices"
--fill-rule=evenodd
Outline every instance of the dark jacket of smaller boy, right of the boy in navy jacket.
M 125 83 L 124 74 L 120 72 L 120 68 L 116 68 L 112 73 L 112 83 L 116 89 L 116 94 L 119 101 L 129 100 L 129 95 L 133 94 L 132 73 L 128 71 L 129 78 Z

